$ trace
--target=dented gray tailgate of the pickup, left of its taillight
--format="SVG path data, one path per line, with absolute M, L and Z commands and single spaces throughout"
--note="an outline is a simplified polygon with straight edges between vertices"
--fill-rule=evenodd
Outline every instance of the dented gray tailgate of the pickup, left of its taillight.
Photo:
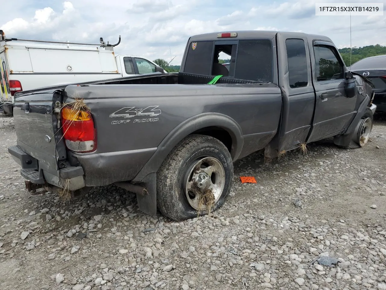
M 58 171 L 58 161 L 66 159 L 61 135 L 55 135 L 58 119 L 53 111 L 53 104 L 61 102 L 61 97 L 60 91 L 47 90 L 15 98 L 17 146 L 51 172 Z

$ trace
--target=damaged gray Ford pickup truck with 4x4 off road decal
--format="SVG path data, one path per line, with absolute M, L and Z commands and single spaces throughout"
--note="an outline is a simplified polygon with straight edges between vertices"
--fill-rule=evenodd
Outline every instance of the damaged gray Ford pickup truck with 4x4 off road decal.
M 376 109 L 371 82 L 347 71 L 329 38 L 275 31 L 192 36 L 178 73 L 15 96 L 8 151 L 29 190 L 115 184 L 144 213 L 177 221 L 222 206 L 233 162 L 252 152 L 275 158 L 332 136 L 363 147 Z

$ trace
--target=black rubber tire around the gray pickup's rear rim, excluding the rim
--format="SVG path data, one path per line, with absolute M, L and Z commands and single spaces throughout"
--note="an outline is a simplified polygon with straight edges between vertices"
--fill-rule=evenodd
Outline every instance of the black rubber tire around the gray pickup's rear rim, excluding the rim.
M 207 214 L 195 210 L 188 203 L 184 191 L 184 176 L 195 160 L 213 157 L 220 161 L 225 171 L 225 184 L 212 212 L 225 202 L 233 180 L 232 157 L 218 139 L 206 135 L 190 135 L 169 153 L 157 172 L 157 207 L 166 217 L 181 221 Z

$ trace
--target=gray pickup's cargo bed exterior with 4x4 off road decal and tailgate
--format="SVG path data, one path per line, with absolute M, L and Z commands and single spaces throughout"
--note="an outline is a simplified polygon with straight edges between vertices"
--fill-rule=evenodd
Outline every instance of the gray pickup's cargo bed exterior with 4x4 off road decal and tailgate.
M 279 124 L 279 87 L 233 78 L 220 78 L 216 85 L 207 85 L 212 78 L 189 73 L 155 74 L 24 92 L 15 98 L 17 146 L 37 160 L 36 168 L 29 170 L 59 187 L 63 187 L 61 176 L 81 169 L 86 186 L 133 180 L 164 140 L 171 138 L 168 146 L 173 147 L 173 135 L 183 130 L 184 123 L 195 120 L 198 130 L 205 120 L 215 118 L 212 124 L 219 134 L 224 130 L 230 138 L 243 142 L 231 151 L 234 159 L 264 148 Z M 75 99 L 85 101 L 94 119 L 97 149 L 90 154 L 66 150 L 53 113 L 56 102 L 65 104 Z M 157 114 L 126 118 L 117 113 L 129 107 L 154 107 Z M 37 174 L 34 176 L 37 178 Z

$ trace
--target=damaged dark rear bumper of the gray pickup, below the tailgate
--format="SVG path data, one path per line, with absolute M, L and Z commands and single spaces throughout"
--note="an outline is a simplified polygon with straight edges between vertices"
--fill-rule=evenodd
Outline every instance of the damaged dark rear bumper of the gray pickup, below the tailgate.
M 51 184 L 74 191 L 85 187 L 84 172 L 81 166 L 69 166 L 58 171 L 48 171 L 47 165 L 25 153 L 20 147 L 8 147 L 8 152 L 22 169 L 20 175 L 34 184 Z

